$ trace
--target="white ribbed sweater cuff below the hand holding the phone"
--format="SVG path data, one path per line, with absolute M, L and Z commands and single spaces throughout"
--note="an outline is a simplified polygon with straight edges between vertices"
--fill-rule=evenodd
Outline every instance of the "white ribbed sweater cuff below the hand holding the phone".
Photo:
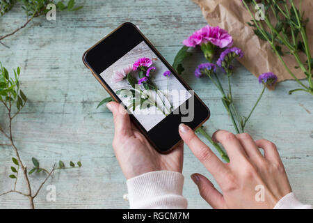
M 127 180 L 130 208 L 187 208 L 182 196 L 184 176 L 174 171 L 153 171 Z

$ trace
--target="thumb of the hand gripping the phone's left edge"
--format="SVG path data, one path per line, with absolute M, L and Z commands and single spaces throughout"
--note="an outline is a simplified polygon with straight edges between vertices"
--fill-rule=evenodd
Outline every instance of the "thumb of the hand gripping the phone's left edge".
M 109 102 L 106 107 L 113 113 L 115 134 L 114 139 L 120 140 L 124 137 L 130 137 L 133 134 L 131 130 L 131 121 L 125 108 L 118 102 Z

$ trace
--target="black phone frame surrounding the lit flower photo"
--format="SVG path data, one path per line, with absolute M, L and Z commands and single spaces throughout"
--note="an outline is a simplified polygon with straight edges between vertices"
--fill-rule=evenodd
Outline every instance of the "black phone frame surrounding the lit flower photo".
M 164 59 L 163 56 L 161 56 L 161 54 L 157 51 L 157 49 L 154 48 L 152 43 L 150 43 L 150 41 L 145 38 L 143 33 L 141 33 L 141 31 L 130 22 L 126 22 L 120 25 L 109 35 L 105 36 L 102 40 L 99 40 L 99 42 L 93 45 L 93 47 L 90 47 L 90 49 L 88 49 L 83 54 L 83 63 L 91 70 L 96 79 L 100 82 L 100 84 L 102 84 L 102 86 L 104 86 L 106 91 L 108 91 L 113 99 L 117 102 L 121 102 L 118 95 L 113 92 L 109 84 L 107 84 L 104 79 L 102 79 L 100 74 L 142 41 L 145 41 L 150 49 L 152 49 L 154 54 L 156 54 L 166 65 L 168 70 L 172 72 L 172 75 L 175 75 L 175 77 L 187 90 L 191 90 L 188 84 L 186 84 L 186 82 L 184 82 L 184 80 L 179 77 L 177 72 L 172 68 L 172 66 L 170 66 L 166 59 Z M 200 125 L 202 125 L 202 123 L 207 121 L 207 119 L 209 119 L 210 112 L 207 105 L 205 105 L 202 100 L 198 98 L 198 95 L 193 93 L 193 98 L 195 107 L 194 118 L 193 121 L 185 124 L 195 130 Z M 189 100 L 184 102 L 185 105 L 183 104 L 180 107 L 188 107 Z M 179 141 L 182 140 L 178 132 L 178 126 L 180 123 L 182 123 L 181 118 L 183 116 L 180 112 L 179 114 L 168 115 L 150 131 L 146 131 L 141 123 L 139 123 L 139 121 L 134 117 L 134 115 L 130 114 L 129 116 L 131 117 L 131 121 L 134 122 L 134 124 L 143 132 L 143 134 L 145 134 L 152 146 L 154 146 L 154 148 L 156 148 L 159 153 L 170 152 L 172 148 L 174 148 L 175 145 L 177 145 Z

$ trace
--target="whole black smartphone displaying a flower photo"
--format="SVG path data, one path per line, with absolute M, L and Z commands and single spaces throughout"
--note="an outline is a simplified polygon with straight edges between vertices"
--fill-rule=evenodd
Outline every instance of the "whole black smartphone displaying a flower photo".
M 83 63 L 159 153 L 182 140 L 180 123 L 195 130 L 209 119 L 208 107 L 130 22 L 90 47 Z

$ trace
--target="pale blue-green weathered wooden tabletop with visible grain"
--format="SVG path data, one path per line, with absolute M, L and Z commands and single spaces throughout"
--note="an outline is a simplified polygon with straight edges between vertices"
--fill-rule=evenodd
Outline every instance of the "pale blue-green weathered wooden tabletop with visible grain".
M 134 22 L 161 54 L 172 63 L 182 40 L 206 24 L 200 8 L 191 1 L 106 0 L 77 1 L 84 8 L 75 13 L 57 13 L 56 21 L 35 18 L 26 29 L 3 40 L 0 61 L 12 72 L 21 66 L 22 89 L 29 102 L 13 123 L 13 134 L 22 160 L 32 167 L 37 157 L 42 167 L 54 162 L 81 160 L 81 169 L 56 171 L 46 185 L 56 185 L 56 202 L 46 201 L 46 187 L 35 199 L 37 208 L 128 208 L 122 199 L 127 192 L 125 178 L 115 159 L 112 115 L 104 107 L 96 109 L 108 94 L 83 66 L 81 56 L 91 45 L 122 22 Z M 8 33 L 25 21 L 20 6 L 0 18 L 0 32 Z M 127 37 L 125 37 L 127 38 Z M 232 130 L 220 94 L 207 78 L 193 76 L 195 66 L 204 61 L 194 52 L 186 61 L 184 79 L 209 105 L 211 118 L 205 124 L 210 133 Z M 255 61 L 257 63 L 257 61 Z M 262 86 L 239 63 L 232 78 L 234 100 L 241 114 L 248 114 Z M 223 84 L 226 79 L 223 77 Z M 266 138 L 277 144 L 289 180 L 298 198 L 313 203 L 313 103 L 306 93 L 288 95 L 296 88 L 293 81 L 282 82 L 267 91 L 247 131 L 255 139 Z M 0 110 L 1 126 L 6 114 Z M 4 142 L 3 137 L 0 138 Z M 10 147 L 0 147 L 0 193 L 13 187 L 10 174 Z M 184 149 L 184 196 L 188 208 L 210 208 L 198 194 L 189 176 L 194 171 L 211 176 L 188 147 Z M 31 175 L 33 190 L 45 178 Z M 214 182 L 214 180 L 213 180 Z M 24 190 L 21 178 L 17 189 Z M 0 197 L 0 208 L 29 208 L 19 194 Z

